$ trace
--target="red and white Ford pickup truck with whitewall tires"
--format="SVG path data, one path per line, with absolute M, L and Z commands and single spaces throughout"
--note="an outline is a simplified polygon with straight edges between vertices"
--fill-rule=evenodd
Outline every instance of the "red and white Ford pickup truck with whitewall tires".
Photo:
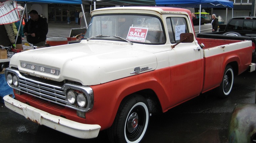
M 91 14 L 80 43 L 12 56 L 5 76 L 15 99 L 4 97 L 8 108 L 75 137 L 107 129 L 112 142 L 139 142 L 151 114 L 214 88 L 225 98 L 235 75 L 255 70 L 251 41 L 195 38 L 187 9 Z

